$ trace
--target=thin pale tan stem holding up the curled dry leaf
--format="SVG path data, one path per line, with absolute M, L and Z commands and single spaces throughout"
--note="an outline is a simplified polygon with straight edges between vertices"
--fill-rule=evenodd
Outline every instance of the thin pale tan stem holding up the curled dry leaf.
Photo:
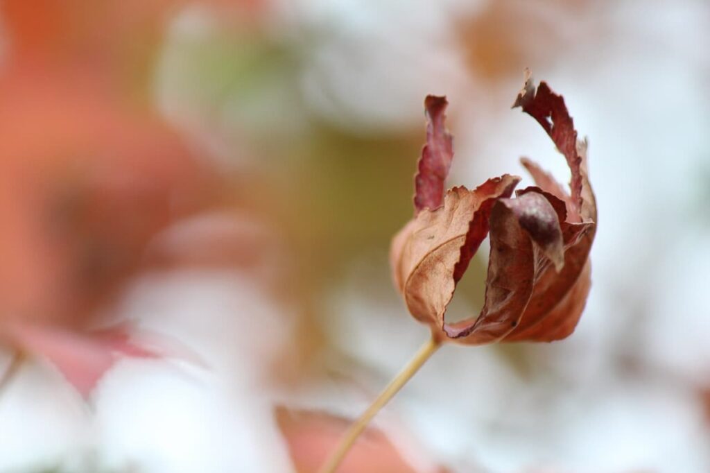
M 384 391 L 373 401 L 370 407 L 350 426 L 340 440 L 337 448 L 332 452 L 330 457 L 328 457 L 328 460 L 322 467 L 320 467 L 318 473 L 334 473 L 336 471 L 351 447 L 355 444 L 357 437 L 365 430 L 372 418 L 375 417 L 381 408 L 383 408 L 405 384 L 407 384 L 407 381 L 412 379 L 412 376 L 419 371 L 427 359 L 430 359 L 432 354 L 435 354 L 440 346 L 441 342 L 435 339 L 435 337 L 432 337 L 422 345 L 407 366 L 390 381 L 390 384 L 388 384 Z

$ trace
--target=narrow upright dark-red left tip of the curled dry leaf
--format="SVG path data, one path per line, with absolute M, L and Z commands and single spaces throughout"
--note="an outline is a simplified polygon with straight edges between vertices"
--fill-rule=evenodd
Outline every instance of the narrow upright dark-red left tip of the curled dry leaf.
M 435 210 L 444 200 L 444 181 L 454 158 L 453 138 L 446 131 L 446 97 L 427 95 L 424 107 L 427 112 L 427 144 L 422 148 L 418 172 L 414 178 L 414 207 L 417 212 L 428 208 Z

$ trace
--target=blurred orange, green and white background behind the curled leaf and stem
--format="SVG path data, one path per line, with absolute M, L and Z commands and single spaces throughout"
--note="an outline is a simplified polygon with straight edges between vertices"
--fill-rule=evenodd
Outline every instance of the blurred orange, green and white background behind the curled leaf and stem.
M 314 472 L 428 336 L 425 95 L 449 185 L 569 180 L 524 67 L 589 136 L 577 331 L 444 347 L 342 472 L 709 472 L 707 45 L 706 0 L 0 0 L 0 472 Z

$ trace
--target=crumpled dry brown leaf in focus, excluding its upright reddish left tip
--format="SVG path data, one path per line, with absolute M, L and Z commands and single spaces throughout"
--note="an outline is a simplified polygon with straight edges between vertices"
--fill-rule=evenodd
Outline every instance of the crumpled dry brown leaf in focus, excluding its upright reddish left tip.
M 564 99 L 545 82 L 532 87 L 528 71 L 515 106 L 533 116 L 564 154 L 572 192 L 523 160 L 537 187 L 518 191 L 515 198 L 510 194 L 519 179 L 503 175 L 473 191 L 450 189 L 435 210 L 417 207 L 418 214 L 393 239 L 391 264 L 410 313 L 440 339 L 465 344 L 562 339 L 574 330 L 589 294 L 596 203 L 586 141 L 577 141 Z M 437 175 L 442 187 L 445 177 Z M 484 308 L 476 318 L 449 324 L 447 305 L 489 229 Z

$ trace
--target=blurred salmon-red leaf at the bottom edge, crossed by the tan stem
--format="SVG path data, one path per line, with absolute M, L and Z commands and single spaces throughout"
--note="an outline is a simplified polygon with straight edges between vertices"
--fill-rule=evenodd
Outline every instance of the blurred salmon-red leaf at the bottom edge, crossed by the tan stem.
M 297 473 L 317 472 L 350 424 L 334 415 L 285 408 L 276 409 L 276 419 Z M 446 470 L 408 463 L 386 435 L 368 428 L 348 452 L 338 472 L 445 473 Z

